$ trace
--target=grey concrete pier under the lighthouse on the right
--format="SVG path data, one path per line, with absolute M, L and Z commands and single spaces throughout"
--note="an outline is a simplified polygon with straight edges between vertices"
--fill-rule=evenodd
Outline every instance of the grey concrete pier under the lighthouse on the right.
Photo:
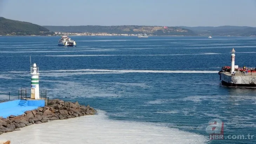
M 252 75 L 251 75 L 252 74 Z M 223 85 L 235 87 L 256 87 L 256 73 L 236 73 L 231 75 L 230 72 L 221 72 L 220 80 Z

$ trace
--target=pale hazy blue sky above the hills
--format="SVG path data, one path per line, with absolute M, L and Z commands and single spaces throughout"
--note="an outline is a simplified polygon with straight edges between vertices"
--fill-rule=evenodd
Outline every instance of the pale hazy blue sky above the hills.
M 256 0 L 0 0 L 0 16 L 43 26 L 256 27 Z

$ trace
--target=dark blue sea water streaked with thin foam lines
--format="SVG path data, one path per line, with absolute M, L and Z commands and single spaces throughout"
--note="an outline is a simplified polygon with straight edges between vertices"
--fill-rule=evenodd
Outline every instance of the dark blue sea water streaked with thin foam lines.
M 256 89 L 224 87 L 218 75 L 232 48 L 236 65 L 256 66 L 255 37 L 70 37 L 76 47 L 58 47 L 60 37 L 0 37 L 0 99 L 29 89 L 31 56 L 49 98 L 208 138 L 208 122 L 217 118 L 224 139 L 209 143 L 256 143 L 247 138 L 256 135 Z

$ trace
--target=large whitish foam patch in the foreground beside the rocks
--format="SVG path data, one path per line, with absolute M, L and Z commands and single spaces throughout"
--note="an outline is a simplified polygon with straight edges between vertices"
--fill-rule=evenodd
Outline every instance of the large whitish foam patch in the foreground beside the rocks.
M 20 131 L 1 135 L 14 144 L 113 144 L 163 143 L 201 144 L 206 136 L 151 123 L 109 120 L 103 111 L 97 115 L 33 124 Z

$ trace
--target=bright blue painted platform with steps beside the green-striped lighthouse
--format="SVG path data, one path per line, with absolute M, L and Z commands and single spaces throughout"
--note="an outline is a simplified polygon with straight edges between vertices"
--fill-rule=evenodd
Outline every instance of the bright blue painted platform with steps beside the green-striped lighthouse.
M 27 110 L 44 107 L 45 100 L 13 100 L 0 103 L 0 116 L 6 118 L 10 115 L 22 115 Z

